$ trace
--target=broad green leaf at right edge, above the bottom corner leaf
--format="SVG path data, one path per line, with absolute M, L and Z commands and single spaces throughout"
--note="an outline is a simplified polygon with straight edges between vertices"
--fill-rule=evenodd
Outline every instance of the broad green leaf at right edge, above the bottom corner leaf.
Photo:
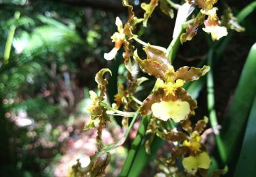
M 246 126 L 248 114 L 251 110 L 256 93 L 256 44 L 253 45 L 244 64 L 236 93 L 231 106 L 225 116 L 221 138 L 225 144 L 225 157 L 223 163 L 230 163 L 242 144 L 242 135 Z M 230 146 L 232 145 L 232 146 Z

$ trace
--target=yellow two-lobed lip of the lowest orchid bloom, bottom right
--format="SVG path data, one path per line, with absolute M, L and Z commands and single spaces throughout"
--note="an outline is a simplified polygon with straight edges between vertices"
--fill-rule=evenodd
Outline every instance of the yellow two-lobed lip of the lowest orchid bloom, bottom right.
M 185 157 L 182 161 L 184 168 L 191 174 L 195 174 L 197 169 L 208 169 L 210 167 L 211 159 L 207 152 L 201 152 L 199 155 L 193 157 Z

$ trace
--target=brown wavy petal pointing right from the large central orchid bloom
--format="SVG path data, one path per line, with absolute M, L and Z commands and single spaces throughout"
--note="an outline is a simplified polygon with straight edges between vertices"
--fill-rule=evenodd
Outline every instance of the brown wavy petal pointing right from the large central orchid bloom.
M 204 76 L 210 70 L 209 66 L 203 66 L 202 68 L 197 67 L 180 67 L 176 71 L 176 79 L 186 81 L 198 80 L 201 76 Z

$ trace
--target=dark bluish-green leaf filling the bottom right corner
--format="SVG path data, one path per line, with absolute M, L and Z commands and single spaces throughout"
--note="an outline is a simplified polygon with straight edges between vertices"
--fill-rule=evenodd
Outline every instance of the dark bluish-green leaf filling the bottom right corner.
M 251 112 L 248 116 L 248 123 L 244 135 L 244 142 L 234 176 L 256 176 L 256 97 L 253 101 Z

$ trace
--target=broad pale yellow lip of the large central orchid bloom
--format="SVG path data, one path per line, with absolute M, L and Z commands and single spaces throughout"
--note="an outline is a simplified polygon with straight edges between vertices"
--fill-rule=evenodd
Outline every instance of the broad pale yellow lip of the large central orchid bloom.
M 190 106 L 186 101 L 161 101 L 152 104 L 151 110 L 156 118 L 164 121 L 172 118 L 175 123 L 179 123 L 189 114 Z

